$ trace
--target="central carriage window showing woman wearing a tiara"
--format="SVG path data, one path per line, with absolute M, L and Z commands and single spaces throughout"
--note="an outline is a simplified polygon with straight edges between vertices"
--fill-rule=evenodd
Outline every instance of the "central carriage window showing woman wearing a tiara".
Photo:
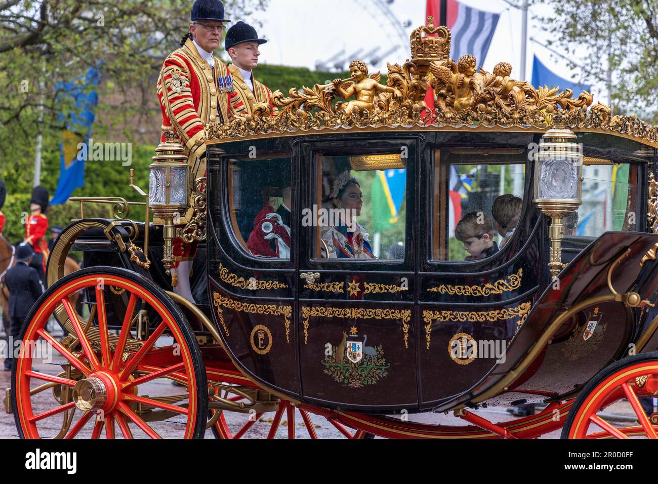
M 403 260 L 406 187 L 399 153 L 320 156 L 315 206 L 302 221 L 316 221 L 315 257 Z

